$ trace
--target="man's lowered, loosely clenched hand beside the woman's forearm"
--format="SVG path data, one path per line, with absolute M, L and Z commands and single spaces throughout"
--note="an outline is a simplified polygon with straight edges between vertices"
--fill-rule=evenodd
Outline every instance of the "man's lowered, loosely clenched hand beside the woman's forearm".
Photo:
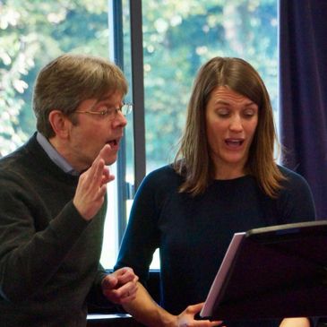
M 122 305 L 135 299 L 138 280 L 132 268 L 121 268 L 102 280 L 102 292 L 111 302 Z

